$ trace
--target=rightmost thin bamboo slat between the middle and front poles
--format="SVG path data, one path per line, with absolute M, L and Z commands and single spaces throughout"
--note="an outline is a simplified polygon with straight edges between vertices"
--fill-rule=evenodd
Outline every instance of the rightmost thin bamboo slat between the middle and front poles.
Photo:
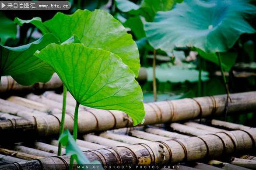
M 233 130 L 238 130 L 238 129 L 248 130 L 251 128 L 249 126 L 239 125 L 239 124 L 235 124 L 235 123 L 231 123 L 231 122 L 224 122 L 224 121 L 215 120 L 215 119 L 211 120 L 211 124 L 214 126 L 220 126 L 220 127 L 224 127 L 227 129 L 233 129 Z

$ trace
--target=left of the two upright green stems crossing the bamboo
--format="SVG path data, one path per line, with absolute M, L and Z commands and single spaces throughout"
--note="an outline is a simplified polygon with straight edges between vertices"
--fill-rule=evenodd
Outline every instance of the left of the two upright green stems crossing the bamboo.
M 65 115 L 66 115 L 66 100 L 67 100 L 67 88 L 63 85 L 63 102 L 62 102 L 62 115 L 61 115 L 61 122 L 60 122 L 60 135 L 64 131 L 64 124 L 65 124 Z M 61 155 L 62 144 L 59 143 L 58 146 L 58 156 Z

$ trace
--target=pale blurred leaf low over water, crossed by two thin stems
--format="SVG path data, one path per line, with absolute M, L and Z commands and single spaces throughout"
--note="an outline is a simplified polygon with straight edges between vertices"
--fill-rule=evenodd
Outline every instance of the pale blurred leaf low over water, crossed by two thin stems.
M 173 65 L 170 68 L 157 67 L 156 78 L 159 82 L 197 82 L 199 71 L 196 69 L 182 68 L 179 65 Z M 153 81 L 153 69 L 147 68 L 147 80 Z M 202 81 L 209 80 L 208 72 L 202 71 Z

